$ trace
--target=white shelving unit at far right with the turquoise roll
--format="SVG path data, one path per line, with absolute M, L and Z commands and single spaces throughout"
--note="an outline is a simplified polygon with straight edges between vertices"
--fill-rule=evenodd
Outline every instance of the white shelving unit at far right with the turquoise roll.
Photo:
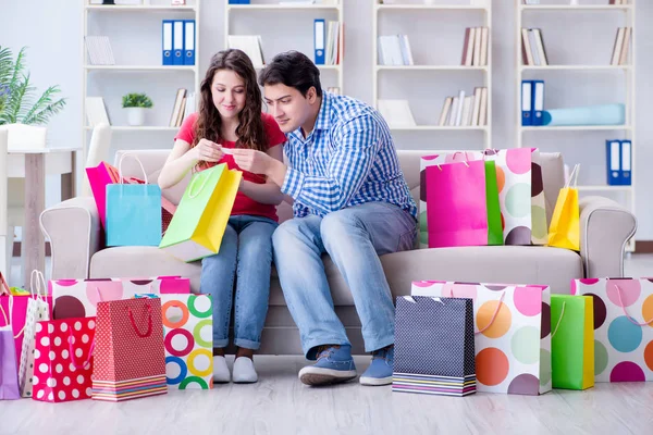
M 636 0 L 630 0 L 629 4 L 579 4 L 579 5 L 569 5 L 569 4 L 521 4 L 521 0 L 515 0 L 516 4 L 516 28 L 515 28 L 515 38 L 516 38 L 516 49 L 515 49 L 515 63 L 516 63 L 516 104 L 515 104 L 515 122 L 517 125 L 516 128 L 516 146 L 517 147 L 532 147 L 538 146 L 541 147 L 540 138 L 541 136 L 532 135 L 531 132 L 560 132 L 560 134 L 576 134 L 578 137 L 582 137 L 583 134 L 592 135 L 594 138 L 596 135 L 601 136 L 601 132 L 605 132 L 606 136 L 603 140 L 599 140 L 595 146 L 600 148 L 589 148 L 588 156 L 601 156 L 603 159 L 603 164 L 607 165 L 607 159 L 603 158 L 605 156 L 605 140 L 607 139 L 623 139 L 623 140 L 631 140 L 631 167 L 633 174 L 636 174 L 631 181 L 632 185 L 630 186 L 611 186 L 611 185 L 580 185 L 578 186 L 579 191 L 582 192 L 625 192 L 628 195 L 628 200 L 624 203 L 624 207 L 630 210 L 631 213 L 634 214 L 634 196 L 636 196 L 636 178 L 637 178 L 637 169 L 634 167 L 637 164 L 636 150 L 637 142 L 634 140 L 636 136 L 636 126 L 634 126 L 634 77 L 636 77 L 636 27 L 634 27 L 634 2 Z M 607 1 L 605 1 L 607 3 Z M 525 26 L 525 17 L 526 20 L 532 20 L 533 16 L 539 17 L 537 15 L 538 12 L 560 12 L 560 13 L 574 13 L 574 12 L 619 12 L 624 13 L 624 16 L 617 15 L 615 20 L 615 28 L 617 26 L 626 26 L 632 27 L 632 33 L 630 35 L 630 51 L 629 51 L 629 62 L 625 62 L 627 64 L 578 64 L 578 65 L 523 65 L 522 64 L 522 35 L 521 29 Z M 555 15 L 554 15 L 555 16 Z M 616 24 L 624 23 L 625 24 Z M 591 32 L 591 30 L 583 30 Z M 612 32 L 612 30 L 609 30 Z M 532 41 L 532 39 L 531 39 Z M 531 45 L 533 42 L 530 42 Z M 535 41 L 537 44 L 537 41 Z M 547 47 L 549 49 L 549 47 Z M 525 50 L 526 52 L 526 50 Z M 541 58 L 541 54 L 539 55 Z M 619 59 L 617 59 L 619 60 Z M 624 61 L 621 58 L 620 61 Z M 614 62 L 614 61 L 613 61 Z M 616 62 L 618 63 L 618 62 Z M 593 77 L 592 73 L 599 74 L 603 72 L 615 72 L 619 71 L 623 74 L 615 75 L 614 79 L 624 82 L 624 96 L 618 97 L 621 100 L 626 108 L 626 120 L 624 125 L 574 125 L 574 126 L 523 126 L 521 125 L 521 82 L 522 79 L 542 79 L 544 77 L 539 77 L 533 73 L 545 73 L 545 72 L 556 72 L 556 79 L 558 80 L 555 86 L 558 86 L 557 91 L 565 91 L 566 89 L 560 89 L 559 86 L 564 84 L 564 74 L 574 73 L 578 75 L 578 72 L 587 75 L 588 79 Z M 528 74 L 528 78 L 525 77 L 525 74 Z M 571 82 L 574 83 L 574 82 Z M 546 85 L 545 85 L 546 89 Z M 583 104 L 584 105 L 584 104 Z M 551 109 L 546 105 L 546 90 L 544 90 L 544 110 Z M 608 133 L 609 132 L 609 133 Z M 576 136 L 574 136 L 576 137 Z M 537 140 L 534 140 L 537 139 Z M 590 139 L 588 139 L 590 140 Z M 562 152 L 565 156 L 565 148 L 556 148 L 557 151 Z M 572 165 L 574 162 L 567 162 L 569 165 Z M 582 162 L 581 162 L 582 164 Z M 596 164 L 594 161 L 592 164 Z M 582 169 L 581 169 L 582 172 Z M 626 246 L 627 251 L 634 250 L 634 240 L 631 239 Z

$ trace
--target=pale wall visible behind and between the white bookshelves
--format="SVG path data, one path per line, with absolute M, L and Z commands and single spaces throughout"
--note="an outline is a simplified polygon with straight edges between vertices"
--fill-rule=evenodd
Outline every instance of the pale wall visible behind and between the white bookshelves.
M 163 1 L 167 0 L 157 0 Z M 270 0 L 271 1 L 271 0 Z M 344 0 L 346 40 L 345 40 L 345 91 L 364 101 L 372 101 L 372 3 L 373 0 Z M 458 0 L 456 0 L 458 1 Z M 562 0 L 560 0 L 562 1 Z M 560 2 L 554 1 L 554 2 Z M 447 2 L 439 0 L 438 2 Z M 454 0 L 451 1 L 453 3 Z M 515 142 L 515 7 L 513 0 L 492 0 L 493 2 L 493 126 L 492 144 L 496 148 L 510 147 Z M 545 2 L 545 0 L 542 0 Z M 607 3 L 607 0 L 581 0 L 582 3 Z M 223 44 L 223 11 L 225 0 L 204 0 L 202 22 L 199 30 L 200 48 L 199 65 L 206 71 L 208 61 Z M 79 145 L 81 141 L 81 96 L 82 96 L 82 0 L 21 0 L 3 1 L 2 15 L 13 17 L 2 20 L 0 27 L 0 45 L 9 46 L 14 51 L 27 45 L 28 66 L 35 85 L 39 89 L 51 84 L 59 84 L 63 96 L 69 98 L 65 111 L 51 123 L 50 141 L 52 146 Z M 296 34 L 311 38 L 310 25 L 301 25 L 297 30 L 294 23 L 308 23 L 316 17 L 311 13 L 301 13 L 296 17 L 285 17 L 281 14 L 272 18 L 267 14 L 258 18 L 236 16 L 233 22 L 238 33 L 260 33 L 264 38 L 264 47 L 270 50 L 301 48 L 310 54 L 308 42 L 295 42 Z M 546 49 L 552 62 L 606 63 L 612 51 L 615 28 L 625 25 L 619 21 L 618 12 L 609 13 L 568 13 L 542 14 L 539 18 L 527 21 L 528 25 L 543 28 Z M 144 25 L 128 15 L 121 18 L 121 25 L 128 26 L 126 35 L 116 38 L 114 51 L 116 60 L 125 62 L 137 61 L 141 57 L 152 57 L 158 62 L 159 27 L 163 16 L 146 17 Z M 386 15 L 381 22 L 381 32 L 402 32 L 410 36 L 414 52 L 420 57 L 449 60 L 461 49 L 463 29 L 466 26 L 481 25 L 480 14 L 453 13 L 440 15 L 438 12 L 422 14 L 410 13 L 404 18 Z M 464 20 L 461 23 L 460 20 Z M 653 123 L 649 113 L 653 109 L 653 87 L 649 77 L 653 73 L 653 28 L 648 26 L 653 20 L 653 2 L 637 0 L 637 157 L 638 167 L 634 173 L 638 185 L 637 215 L 639 220 L 638 239 L 653 239 L 653 204 L 644 192 L 645 186 L 653 183 L 653 172 L 649 171 L 645 162 L 653 160 Z M 452 23 L 456 23 L 454 26 Z M 584 26 L 581 29 L 580 25 Z M 114 35 L 115 28 L 111 21 L 101 18 L 97 23 L 98 33 L 106 32 Z M 152 28 L 156 30 L 152 32 Z M 448 30 L 451 28 L 451 32 Z M 445 32 L 446 30 L 446 32 Z M 305 34 L 306 32 L 307 34 Z M 271 40 L 272 35 L 281 35 Z M 303 38 L 300 36 L 299 38 Z M 268 40 L 268 42 L 266 42 Z M 300 39 L 303 40 L 303 39 Z M 133 41 L 133 44 L 131 42 Z M 54 50 L 52 47 L 58 47 Z M 120 51 L 119 51 L 120 50 Z M 156 53 L 156 54 L 155 54 Z M 268 58 L 271 52 L 266 53 Z M 161 73 L 159 73 L 161 74 Z M 427 122 L 439 116 L 442 99 L 453 95 L 460 87 L 478 85 L 481 76 L 477 73 L 384 73 L 380 83 L 380 91 L 386 98 L 406 95 L 411 100 L 418 121 Z M 410 75 L 408 75 L 410 74 Z M 202 74 L 200 74 L 202 75 Z M 91 80 L 91 87 L 104 94 L 110 104 L 110 114 L 121 119 L 119 98 L 128 90 L 138 89 L 152 92 L 155 105 L 160 108 L 155 116 L 165 119 L 174 101 L 174 92 L 181 83 L 187 78 L 182 76 L 160 75 L 140 77 L 136 75 L 115 75 L 101 82 Z M 564 107 L 579 103 L 599 103 L 621 101 L 618 73 L 577 73 L 560 75 L 547 73 L 538 78 L 547 80 L 547 105 Z M 151 79 L 150 79 L 151 78 Z M 330 80 L 332 77 L 325 77 Z M 557 92 L 556 88 L 566 89 Z M 570 90 L 569 90 L 570 89 Z M 569 163 L 583 163 L 579 183 L 604 183 L 604 142 L 613 135 L 612 132 L 574 134 L 574 133 L 530 133 L 525 136 L 525 144 L 538 146 L 543 150 L 560 150 Z M 397 133 L 398 148 L 478 148 L 482 136 L 471 133 Z M 172 134 L 126 134 L 114 135 L 113 149 L 140 147 L 163 148 L 172 146 Z M 617 137 L 617 136 L 615 136 Z M 47 203 L 57 202 L 59 186 L 53 179 L 48 179 Z M 615 199 L 625 200 L 616 197 Z

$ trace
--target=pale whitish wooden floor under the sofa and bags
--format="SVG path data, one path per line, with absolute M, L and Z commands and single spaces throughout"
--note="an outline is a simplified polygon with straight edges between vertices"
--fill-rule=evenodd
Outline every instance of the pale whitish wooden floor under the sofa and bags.
M 652 276 L 653 257 L 632 256 L 627 276 Z M 233 358 L 230 359 L 230 363 Z M 392 393 L 357 382 L 311 388 L 300 357 L 256 357 L 260 382 L 174 391 L 122 403 L 0 401 L 0 435 L 192 434 L 653 434 L 653 383 L 596 384 L 540 397 L 465 398 Z M 369 357 L 357 357 L 361 373 Z

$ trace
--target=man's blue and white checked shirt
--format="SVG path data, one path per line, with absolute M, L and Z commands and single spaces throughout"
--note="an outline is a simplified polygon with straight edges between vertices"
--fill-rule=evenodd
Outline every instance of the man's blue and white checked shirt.
M 372 201 L 396 204 L 417 217 L 390 128 L 371 107 L 324 91 L 308 137 L 300 128 L 286 136 L 288 170 L 281 191 L 295 200 L 296 217 Z

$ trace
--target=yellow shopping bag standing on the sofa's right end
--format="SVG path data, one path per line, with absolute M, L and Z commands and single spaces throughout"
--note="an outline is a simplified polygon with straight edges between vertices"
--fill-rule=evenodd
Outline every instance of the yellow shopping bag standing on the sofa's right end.
M 560 189 L 551 225 L 549 226 L 549 246 L 580 250 L 580 209 L 578 208 L 578 169 L 575 165 L 565 187 Z M 574 187 L 569 187 L 574 179 Z

